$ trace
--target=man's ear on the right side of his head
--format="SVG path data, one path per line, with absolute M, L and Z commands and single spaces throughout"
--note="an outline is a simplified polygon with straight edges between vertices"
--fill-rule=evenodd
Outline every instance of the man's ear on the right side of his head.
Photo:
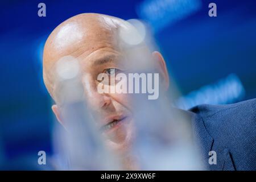
M 153 59 L 156 64 L 156 69 L 158 69 L 160 73 L 160 77 L 163 79 L 161 80 L 162 85 L 164 86 L 164 90 L 168 90 L 169 88 L 169 75 L 166 68 L 166 61 L 164 61 L 163 56 L 160 52 L 154 51 L 152 52 Z

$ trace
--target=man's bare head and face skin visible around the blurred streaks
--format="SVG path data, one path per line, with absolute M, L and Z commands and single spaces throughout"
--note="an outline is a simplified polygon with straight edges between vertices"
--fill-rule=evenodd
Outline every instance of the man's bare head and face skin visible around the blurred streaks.
M 126 72 L 127 59 L 118 39 L 118 28 L 124 20 L 101 14 L 80 14 L 65 20 L 53 30 L 47 39 L 43 55 L 43 77 L 49 93 L 56 104 L 52 106 L 57 120 L 65 126 L 61 109 L 61 101 L 56 91 L 55 65 L 63 56 L 73 56 L 79 60 L 86 101 L 92 111 L 99 128 L 118 121 L 117 125 L 105 129 L 102 135 L 106 144 L 115 152 L 122 154 L 127 169 L 134 169 L 131 159 L 126 156 L 133 143 L 134 119 L 133 103 L 129 94 L 98 93 L 97 76 L 100 73 L 111 74 Z M 168 73 L 166 64 L 159 52 L 151 54 L 160 73 L 160 82 L 168 89 Z

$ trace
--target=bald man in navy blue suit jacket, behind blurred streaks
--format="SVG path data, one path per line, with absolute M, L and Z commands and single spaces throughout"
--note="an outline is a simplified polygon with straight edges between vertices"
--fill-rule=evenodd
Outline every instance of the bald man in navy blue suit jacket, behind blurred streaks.
M 61 89 L 56 76 L 57 61 L 72 56 L 79 61 L 82 75 L 86 75 L 84 94 L 93 113 L 95 122 L 104 127 L 108 146 L 125 154 L 134 137 L 134 106 L 129 94 L 99 93 L 97 76 L 106 73 L 126 73 L 138 60 L 129 56 L 136 51 L 143 52 L 148 64 L 152 62 L 160 75 L 159 82 L 164 91 L 168 89 L 169 78 L 166 63 L 159 52 L 150 52 L 142 46 L 126 45 L 121 40 L 120 30 L 129 29 L 125 20 L 102 14 L 80 14 L 65 20 L 52 31 L 44 46 L 43 78 L 49 94 L 55 101 L 52 106 L 57 120 L 65 126 L 61 110 Z M 129 35 L 129 34 L 128 34 Z M 136 47 L 136 48 L 134 48 Z M 129 52 L 129 53 L 127 53 Z M 138 53 L 138 52 L 137 52 Z M 201 143 L 202 159 L 207 169 L 251 170 L 256 169 L 256 100 L 234 105 L 201 105 L 190 111 L 195 137 Z M 156 121 L 157 122 L 157 121 Z M 209 163 L 209 151 L 216 151 L 217 163 Z M 128 169 L 135 169 L 130 159 Z

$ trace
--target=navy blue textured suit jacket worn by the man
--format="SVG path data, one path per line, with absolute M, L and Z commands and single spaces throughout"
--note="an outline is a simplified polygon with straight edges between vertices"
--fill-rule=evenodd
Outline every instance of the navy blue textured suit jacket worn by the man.
M 189 110 L 203 163 L 210 170 L 256 170 L 256 99 Z M 209 151 L 217 164 L 209 164 Z

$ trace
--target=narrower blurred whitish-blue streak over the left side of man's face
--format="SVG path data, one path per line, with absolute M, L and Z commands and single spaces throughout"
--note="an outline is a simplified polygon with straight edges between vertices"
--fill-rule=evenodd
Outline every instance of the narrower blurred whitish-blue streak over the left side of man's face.
M 84 100 L 79 63 L 71 56 L 57 63 L 58 86 L 61 88 L 61 117 L 66 132 L 59 142 L 64 155 L 68 154 L 68 169 L 71 170 L 110 170 L 118 169 L 117 159 L 106 150 L 100 131 L 90 117 Z

